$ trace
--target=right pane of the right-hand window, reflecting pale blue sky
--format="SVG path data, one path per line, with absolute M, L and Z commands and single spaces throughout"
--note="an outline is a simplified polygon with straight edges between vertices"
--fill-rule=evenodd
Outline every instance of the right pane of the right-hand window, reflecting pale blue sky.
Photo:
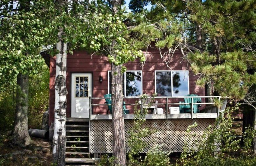
M 188 71 L 172 72 L 173 95 L 185 96 L 188 93 Z

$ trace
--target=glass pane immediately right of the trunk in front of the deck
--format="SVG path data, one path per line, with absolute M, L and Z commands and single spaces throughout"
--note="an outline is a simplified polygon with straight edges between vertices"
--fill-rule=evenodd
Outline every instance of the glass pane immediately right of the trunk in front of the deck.
M 141 92 L 141 72 L 126 72 L 126 96 L 138 96 Z

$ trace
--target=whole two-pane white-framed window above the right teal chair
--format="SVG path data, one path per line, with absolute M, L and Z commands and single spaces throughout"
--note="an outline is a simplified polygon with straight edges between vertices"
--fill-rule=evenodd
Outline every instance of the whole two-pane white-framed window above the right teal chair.
M 155 92 L 158 96 L 189 94 L 188 71 L 155 71 Z

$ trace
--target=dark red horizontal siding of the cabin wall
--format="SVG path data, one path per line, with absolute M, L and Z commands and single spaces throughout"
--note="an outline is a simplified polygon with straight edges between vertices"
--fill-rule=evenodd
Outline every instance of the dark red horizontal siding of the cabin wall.
M 148 52 L 144 52 L 146 54 L 146 62 L 143 66 L 141 66 L 139 60 L 134 62 L 129 62 L 125 64 L 127 70 L 142 70 L 142 89 L 143 94 L 152 95 L 155 93 L 155 70 L 189 70 L 189 93 L 197 94 L 198 96 L 204 96 L 205 91 L 204 88 L 198 87 L 196 85 L 195 80 L 198 79 L 197 76 L 193 76 L 194 74 L 189 69 L 188 62 L 183 59 L 183 56 L 180 51 L 175 52 L 172 55 L 172 58 L 165 56 L 165 58 L 161 58 L 159 54 L 159 50 L 156 49 L 148 49 Z M 168 62 L 168 68 L 164 59 Z M 50 59 L 50 113 L 49 113 L 49 124 L 54 122 L 54 83 L 55 83 L 55 63 L 56 57 L 51 57 Z M 70 99 L 70 82 L 71 82 L 71 73 L 92 73 L 92 97 L 103 97 L 104 94 L 108 93 L 108 71 L 111 70 L 111 65 L 108 63 L 108 59 L 106 56 L 101 55 L 91 55 L 86 53 L 85 51 L 74 51 L 73 55 L 67 56 L 67 117 L 71 116 L 71 99 Z M 103 81 L 99 82 L 99 77 L 103 77 Z M 134 103 L 134 99 L 127 100 L 126 103 Z M 169 100 L 170 101 L 170 100 Z M 183 101 L 173 100 L 170 102 L 178 102 Z M 105 100 L 95 100 L 94 103 L 104 103 Z M 159 100 L 161 102 L 161 100 Z M 202 98 L 202 102 L 204 99 Z M 159 106 L 161 107 L 161 106 Z M 163 106 L 164 107 L 164 106 Z M 204 107 L 204 106 L 203 106 Z M 127 109 L 132 111 L 131 106 L 127 106 Z M 107 107 L 106 106 L 98 106 L 93 108 L 93 114 L 106 114 Z

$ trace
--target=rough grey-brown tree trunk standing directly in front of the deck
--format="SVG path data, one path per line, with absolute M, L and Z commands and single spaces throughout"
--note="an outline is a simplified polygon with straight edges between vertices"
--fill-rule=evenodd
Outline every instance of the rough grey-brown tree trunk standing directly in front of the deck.
M 112 0 L 112 11 L 116 14 L 121 9 L 121 0 Z M 112 41 L 112 46 L 116 41 Z M 116 166 L 126 165 L 124 111 L 123 111 L 123 73 L 122 65 L 111 64 L 112 71 L 112 132 L 113 156 Z

